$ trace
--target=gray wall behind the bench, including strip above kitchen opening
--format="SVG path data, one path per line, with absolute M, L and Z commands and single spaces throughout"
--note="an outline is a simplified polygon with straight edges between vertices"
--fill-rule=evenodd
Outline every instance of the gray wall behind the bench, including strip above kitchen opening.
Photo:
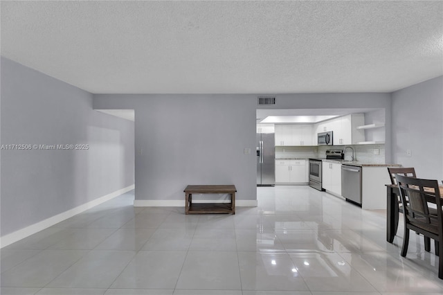
M 276 98 L 275 109 L 384 108 L 390 114 L 389 93 Z M 183 199 L 187 184 L 235 184 L 237 199 L 255 200 L 257 107 L 255 94 L 94 95 L 95 109 L 135 109 L 139 200 Z M 251 154 L 244 154 L 244 148 Z

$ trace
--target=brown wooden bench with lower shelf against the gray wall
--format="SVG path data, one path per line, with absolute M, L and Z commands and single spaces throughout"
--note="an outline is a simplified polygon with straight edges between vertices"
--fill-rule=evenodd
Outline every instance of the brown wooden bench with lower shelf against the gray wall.
M 198 213 L 232 213 L 235 214 L 235 192 L 233 185 L 221 186 L 186 186 L 186 215 Z M 229 203 L 192 203 L 192 194 L 230 194 Z

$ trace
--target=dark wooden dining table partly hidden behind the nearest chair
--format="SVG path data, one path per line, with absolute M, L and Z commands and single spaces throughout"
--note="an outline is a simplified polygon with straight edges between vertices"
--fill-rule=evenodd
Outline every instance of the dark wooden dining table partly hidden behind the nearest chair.
M 439 185 L 440 196 L 443 196 L 443 185 Z M 399 224 L 399 186 L 397 184 L 386 184 L 386 240 L 394 241 Z M 432 202 L 432 200 L 429 200 Z M 443 202 L 443 198 L 442 198 Z

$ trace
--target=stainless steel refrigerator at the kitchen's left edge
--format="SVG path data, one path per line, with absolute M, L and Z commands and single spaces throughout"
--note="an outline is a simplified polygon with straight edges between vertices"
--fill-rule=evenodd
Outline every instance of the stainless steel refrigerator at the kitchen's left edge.
M 275 185 L 275 134 L 257 133 L 257 186 Z

